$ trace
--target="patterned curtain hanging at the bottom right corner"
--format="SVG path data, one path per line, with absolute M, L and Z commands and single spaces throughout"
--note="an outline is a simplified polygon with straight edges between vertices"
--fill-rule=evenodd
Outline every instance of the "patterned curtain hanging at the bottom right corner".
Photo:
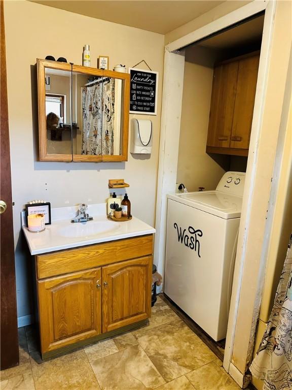
M 263 390 L 292 389 L 292 248 L 289 243 L 274 307 L 249 370 Z

